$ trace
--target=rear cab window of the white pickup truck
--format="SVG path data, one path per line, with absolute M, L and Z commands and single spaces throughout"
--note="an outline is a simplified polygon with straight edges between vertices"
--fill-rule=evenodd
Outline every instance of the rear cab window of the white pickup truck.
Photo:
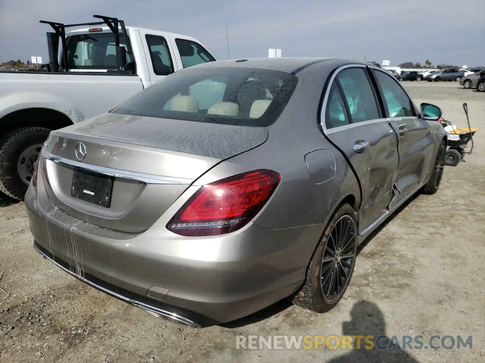
M 120 45 L 126 49 L 122 34 Z M 68 36 L 66 50 L 70 69 L 116 69 L 115 39 L 111 31 Z M 126 62 L 130 62 L 128 51 Z

